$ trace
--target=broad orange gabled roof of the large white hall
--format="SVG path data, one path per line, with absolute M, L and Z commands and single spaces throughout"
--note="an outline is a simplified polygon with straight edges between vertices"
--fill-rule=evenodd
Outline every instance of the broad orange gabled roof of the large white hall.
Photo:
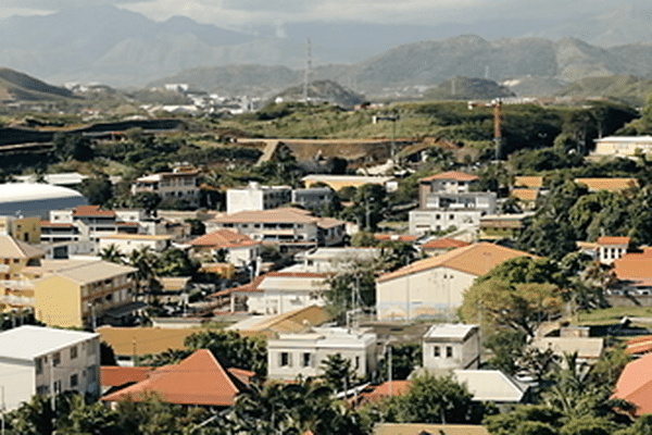
M 489 243 L 479 243 L 453 249 L 441 256 L 421 260 L 409 264 L 398 271 L 381 275 L 377 282 L 394 279 L 401 276 L 427 271 L 435 268 L 450 268 L 472 275 L 480 276 L 504 261 L 518 258 L 538 258 L 528 252 L 505 248 Z

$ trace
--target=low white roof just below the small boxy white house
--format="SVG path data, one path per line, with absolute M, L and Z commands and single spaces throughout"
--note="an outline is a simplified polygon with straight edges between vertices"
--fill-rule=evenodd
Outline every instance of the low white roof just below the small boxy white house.
M 466 384 L 474 400 L 519 402 L 527 387 L 499 370 L 454 370 L 460 384 Z

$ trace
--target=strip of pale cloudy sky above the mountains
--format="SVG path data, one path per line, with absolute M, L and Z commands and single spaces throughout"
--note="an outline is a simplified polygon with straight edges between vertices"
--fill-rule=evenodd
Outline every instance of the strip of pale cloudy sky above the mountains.
M 164 21 L 185 15 L 220 27 L 309 21 L 468 23 L 492 18 L 560 18 L 609 12 L 649 0 L 0 0 L 0 17 L 45 14 L 63 8 L 112 3 Z

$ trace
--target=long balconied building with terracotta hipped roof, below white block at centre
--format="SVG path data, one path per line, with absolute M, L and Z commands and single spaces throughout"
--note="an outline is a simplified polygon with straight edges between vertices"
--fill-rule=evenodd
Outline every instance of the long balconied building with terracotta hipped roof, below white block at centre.
M 334 246 L 343 241 L 343 221 L 316 217 L 301 209 L 284 208 L 263 211 L 241 211 L 215 217 L 205 223 L 206 231 L 233 229 L 254 240 L 286 247 Z

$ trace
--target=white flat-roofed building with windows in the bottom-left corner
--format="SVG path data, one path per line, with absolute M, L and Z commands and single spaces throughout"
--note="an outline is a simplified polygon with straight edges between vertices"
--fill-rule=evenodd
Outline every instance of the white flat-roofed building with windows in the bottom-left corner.
M 34 395 L 100 394 L 99 334 L 20 326 L 0 334 L 0 385 L 16 409 Z

